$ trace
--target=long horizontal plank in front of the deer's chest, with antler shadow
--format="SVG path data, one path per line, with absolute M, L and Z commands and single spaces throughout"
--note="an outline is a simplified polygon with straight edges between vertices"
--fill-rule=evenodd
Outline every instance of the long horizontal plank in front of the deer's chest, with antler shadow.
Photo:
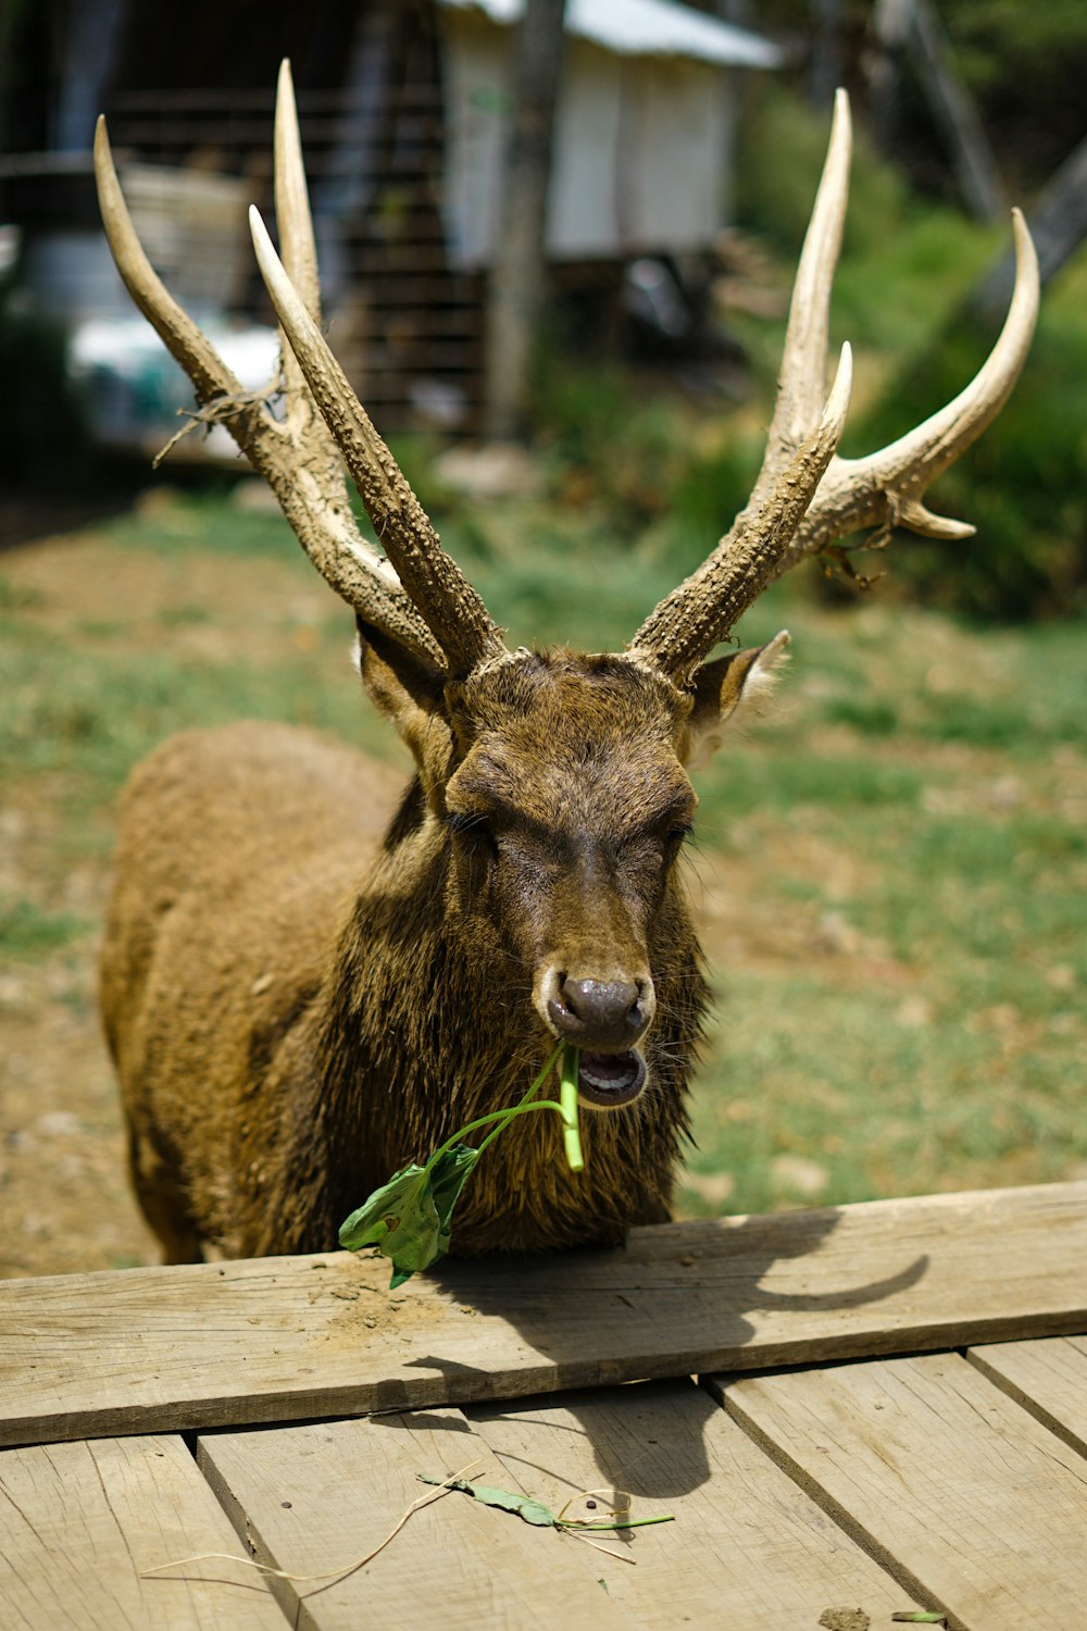
M 300 1421 L 1087 1329 L 1087 1182 L 634 1230 L 624 1251 L 344 1253 L 0 1285 L 0 1443 Z

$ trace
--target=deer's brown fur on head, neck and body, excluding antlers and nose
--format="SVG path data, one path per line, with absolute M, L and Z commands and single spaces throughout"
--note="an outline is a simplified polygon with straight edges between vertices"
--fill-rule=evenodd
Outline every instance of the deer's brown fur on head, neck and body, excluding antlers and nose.
M 570 652 L 445 687 L 362 633 L 367 688 L 417 762 L 399 801 L 381 767 L 271 724 L 174 737 L 125 793 L 103 1013 L 166 1259 L 332 1246 L 394 1168 L 523 1094 L 554 1047 L 543 966 L 652 977 L 649 1081 L 582 1116 L 580 1176 L 557 1117 L 495 1140 L 453 1251 L 663 1220 L 706 1001 L 681 765 L 756 654 L 688 692 Z

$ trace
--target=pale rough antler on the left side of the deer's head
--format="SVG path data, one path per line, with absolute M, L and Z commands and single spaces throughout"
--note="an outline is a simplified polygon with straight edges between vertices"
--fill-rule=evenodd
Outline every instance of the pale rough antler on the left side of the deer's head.
M 373 427 L 367 444 L 370 465 L 360 491 L 393 564 L 355 527 L 334 439 L 305 383 L 292 344 L 280 347 L 287 413 L 279 421 L 266 400 L 243 390 L 210 341 L 168 294 L 132 227 L 104 119 L 98 121 L 95 134 L 95 173 L 106 238 L 129 294 L 192 380 L 204 409 L 200 416 L 228 424 L 249 463 L 275 493 L 298 541 L 326 582 L 367 623 L 455 674 L 504 652 L 486 607 L 442 551 L 419 501 Z M 297 326 L 300 312 L 319 339 L 316 253 L 287 62 L 280 69 L 275 99 L 275 214 L 290 277 L 301 290 L 295 294 L 292 289 L 297 303 L 292 321 Z M 347 382 L 339 370 L 336 373 L 350 396 Z M 339 424 L 342 418 L 332 422 Z M 352 463 L 354 475 L 359 475 L 359 463 L 357 458 Z M 394 566 L 404 566 L 407 592 Z M 463 625 L 458 621 L 461 613 Z

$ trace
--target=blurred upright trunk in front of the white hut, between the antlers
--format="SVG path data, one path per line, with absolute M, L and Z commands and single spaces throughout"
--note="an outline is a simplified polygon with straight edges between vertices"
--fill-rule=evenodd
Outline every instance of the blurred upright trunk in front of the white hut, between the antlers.
M 528 364 L 544 295 L 551 134 L 562 60 L 566 0 L 525 0 L 513 41 L 512 117 L 500 230 L 486 326 L 484 429 L 492 440 L 525 431 Z

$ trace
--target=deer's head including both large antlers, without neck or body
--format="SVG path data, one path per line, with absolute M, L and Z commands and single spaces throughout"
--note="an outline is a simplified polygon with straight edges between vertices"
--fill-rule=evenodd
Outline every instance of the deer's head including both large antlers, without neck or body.
M 1038 272 L 1015 214 L 1015 294 L 976 378 L 877 453 L 838 455 L 849 347 L 826 398 L 825 382 L 849 147 L 839 93 L 751 501 L 624 652 L 579 656 L 507 649 L 324 343 L 287 67 L 275 121 L 282 261 L 251 212 L 284 336 L 282 418 L 243 391 L 160 284 L 99 124 L 103 217 L 132 297 L 189 372 L 204 413 L 227 419 L 315 566 L 355 608 L 363 683 L 419 771 L 407 838 L 440 835 L 448 846 L 461 920 L 502 943 L 543 1026 L 583 1049 L 582 1096 L 595 1106 L 629 1103 L 645 1081 L 637 1044 L 654 1023 L 655 944 L 675 908 L 673 868 L 696 804 L 688 767 L 768 688 L 787 636 L 717 657 L 714 648 L 774 577 L 847 533 L 903 525 L 968 537 L 971 527 L 932 514 L 924 494 L 1001 411 L 1033 333 Z M 344 465 L 383 553 L 354 525 Z M 481 992 L 481 1003 L 507 997 Z

